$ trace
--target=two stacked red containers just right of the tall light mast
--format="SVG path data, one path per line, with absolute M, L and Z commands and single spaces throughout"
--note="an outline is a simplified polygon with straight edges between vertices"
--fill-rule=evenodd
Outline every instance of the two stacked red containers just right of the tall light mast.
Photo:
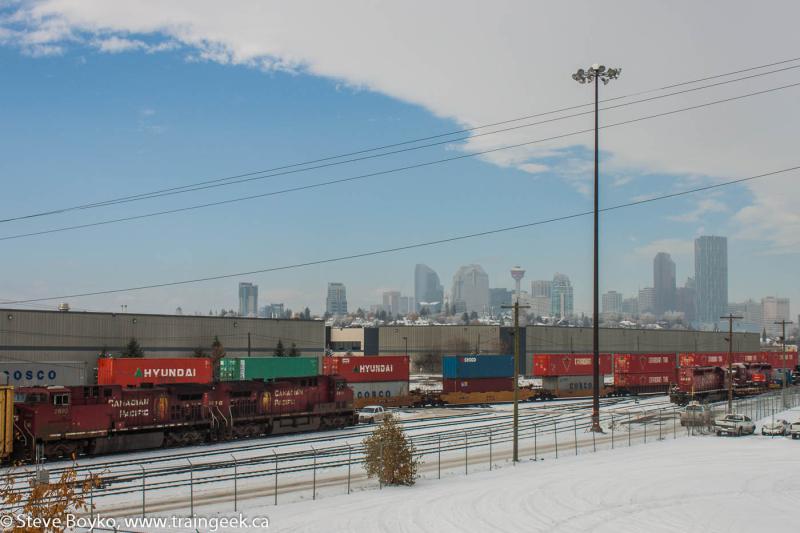
M 614 385 L 629 393 L 666 392 L 678 380 L 674 353 L 614 354 Z

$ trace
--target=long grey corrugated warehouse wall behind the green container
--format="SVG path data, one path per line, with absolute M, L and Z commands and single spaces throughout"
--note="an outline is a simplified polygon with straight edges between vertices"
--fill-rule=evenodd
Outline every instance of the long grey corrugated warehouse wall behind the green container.
M 301 353 L 320 355 L 325 346 L 321 321 L 240 317 L 137 315 L 0 309 L 0 361 L 86 361 L 107 349 L 119 352 L 131 337 L 146 356 L 186 356 L 211 352 L 219 336 L 228 355 L 271 355 L 280 339 Z

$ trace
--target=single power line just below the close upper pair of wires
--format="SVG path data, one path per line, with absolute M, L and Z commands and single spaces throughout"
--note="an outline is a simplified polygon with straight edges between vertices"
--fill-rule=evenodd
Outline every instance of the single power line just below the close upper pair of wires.
M 717 104 L 722 104 L 722 103 L 732 102 L 732 101 L 736 101 L 736 100 L 741 100 L 741 99 L 744 99 L 744 98 L 749 98 L 751 96 L 759 96 L 759 95 L 762 95 L 762 94 L 767 94 L 767 93 L 780 91 L 780 90 L 783 90 L 783 89 L 788 89 L 788 88 L 797 87 L 797 86 L 800 86 L 800 82 L 792 83 L 792 84 L 788 84 L 788 85 L 782 85 L 782 86 L 779 86 L 779 87 L 772 87 L 770 89 L 764 89 L 764 90 L 761 90 L 761 91 L 756 91 L 756 92 L 747 93 L 747 94 L 743 94 L 743 95 L 733 96 L 733 97 L 730 97 L 730 98 L 723 98 L 723 99 L 720 99 L 720 100 L 713 100 L 711 102 L 705 102 L 705 103 L 702 103 L 702 104 L 693 105 L 693 106 L 689 106 L 689 107 L 673 109 L 671 111 L 665 111 L 665 112 L 656 113 L 656 114 L 653 114 L 653 115 L 645 115 L 645 116 L 642 116 L 642 117 L 637 117 L 637 118 L 633 118 L 633 119 L 629 119 L 629 120 L 624 120 L 624 121 L 621 121 L 621 122 L 615 122 L 615 123 L 612 123 L 612 124 L 606 124 L 604 126 L 600 126 L 600 129 L 614 128 L 614 127 L 617 127 L 617 126 L 633 124 L 633 123 L 636 123 L 636 122 L 642 122 L 642 121 L 650 120 L 650 119 L 653 119 L 653 118 L 659 118 L 659 117 L 674 115 L 674 114 L 682 113 L 682 112 L 685 112 L 685 111 L 692 111 L 692 110 L 695 110 L 695 109 L 701 109 L 701 108 L 705 108 L 705 107 L 710 107 L 710 106 L 717 105 Z M 358 180 L 373 178 L 373 177 L 377 177 L 377 176 L 385 176 L 387 174 L 394 174 L 394 173 L 397 173 L 397 172 L 404 172 L 404 171 L 407 171 L 407 170 L 414 170 L 414 169 L 418 169 L 418 168 L 424 168 L 424 167 L 429 167 L 429 166 L 433 166 L 433 165 L 439 165 L 439 164 L 442 164 L 442 163 L 449 163 L 449 162 L 452 162 L 452 161 L 458 161 L 458 160 L 461 160 L 461 159 L 477 157 L 477 156 L 480 156 L 480 155 L 486 155 L 486 154 L 490 154 L 490 153 L 500 152 L 500 151 L 503 151 L 503 150 L 510 150 L 510 149 L 513 149 L 513 148 L 520 148 L 520 147 L 523 147 L 523 146 L 530 146 L 530 145 L 538 144 L 538 143 L 542 143 L 542 142 L 553 141 L 553 140 L 558 140 L 558 139 L 564 139 L 564 138 L 567 138 L 567 137 L 572 137 L 572 136 L 575 136 L 575 135 L 580 135 L 580 134 L 583 134 L 583 133 L 589 133 L 589 132 L 593 132 L 593 131 L 594 131 L 593 128 L 588 128 L 588 129 L 584 129 L 584 130 L 577 130 L 577 131 L 572 131 L 572 132 L 564 133 L 564 134 L 560 134 L 560 135 L 554 135 L 554 136 L 546 137 L 546 138 L 542 138 L 542 139 L 535 139 L 535 140 L 532 140 L 532 141 L 525 141 L 525 142 L 522 142 L 522 143 L 511 144 L 511 145 L 507 145 L 507 146 L 501 146 L 501 147 L 498 147 L 498 148 L 491 148 L 491 149 L 488 149 L 488 150 L 482 150 L 482 151 L 479 151 L 479 152 L 470 152 L 468 154 L 462 154 L 462 155 L 458 155 L 458 156 L 447 157 L 447 158 L 444 158 L 444 159 L 436 159 L 436 160 L 433 160 L 433 161 L 426 161 L 426 162 L 423 162 L 423 163 L 415 163 L 415 164 L 406 165 L 406 166 L 402 166 L 402 167 L 396 167 L 396 168 L 393 168 L 393 169 L 380 170 L 380 171 L 376 171 L 376 172 L 369 172 L 369 173 L 366 173 L 366 174 L 359 174 L 359 175 L 356 175 L 356 176 L 349 176 L 349 177 L 346 177 L 346 178 L 339 178 L 339 179 L 335 179 L 335 180 L 312 183 L 312 184 L 308 184 L 308 185 L 299 185 L 299 186 L 296 186 L 296 187 L 290 187 L 290 188 L 280 189 L 280 190 L 277 190 L 277 191 L 271 191 L 271 192 L 266 192 L 266 193 L 253 194 L 253 195 L 247 195 L 247 196 L 240 196 L 240 197 L 231 198 L 231 199 L 228 199 L 228 200 L 219 200 L 219 201 L 215 201 L 215 202 L 208 202 L 208 203 L 205 203 L 205 204 L 198 204 L 198 205 L 192 205 L 192 206 L 187 206 L 187 207 L 179 207 L 179 208 L 175 208 L 175 209 L 166 209 L 166 210 L 163 210 L 163 211 L 155 211 L 155 212 L 151 212 L 151 213 L 145 213 L 145 214 L 142 214 L 142 215 L 132 215 L 132 216 L 129 216 L 129 217 L 115 218 L 115 219 L 109 219 L 109 220 L 101 220 L 99 222 L 90 222 L 90 223 L 87 223 L 87 224 L 64 226 L 64 227 L 61 227 L 61 228 L 51 228 L 51 229 L 46 229 L 46 230 L 41 230 L 41 231 L 33 231 L 33 232 L 28 232 L 28 233 L 19 233 L 19 234 L 16 234 L 16 235 L 6 235 L 4 237 L 0 237 L 0 241 L 23 239 L 23 238 L 27 238 L 27 237 L 35 237 L 35 236 L 38 236 L 38 235 L 47 235 L 47 234 L 51 234 L 51 233 L 60 233 L 60 232 L 64 232 L 64 231 L 71 231 L 71 230 L 77 230 L 77 229 L 86 229 L 86 228 L 92 228 L 92 227 L 97 227 L 97 226 L 105 226 L 105 225 L 108 225 L 108 224 L 116 224 L 116 223 L 119 223 L 119 222 L 130 222 L 130 221 L 133 221 L 133 220 L 141 220 L 141 219 L 151 218 L 151 217 L 156 217 L 156 216 L 169 215 L 169 214 L 175 214 L 175 213 L 182 213 L 182 212 L 186 212 L 186 211 L 193 211 L 193 210 L 196 210 L 196 209 L 203 209 L 203 208 L 206 208 L 206 207 L 215 207 L 215 206 L 220 206 L 220 205 L 243 202 L 243 201 L 247 201 L 247 200 L 255 200 L 255 199 L 258 199 L 258 198 L 267 198 L 267 197 L 270 197 L 270 196 L 279 196 L 279 195 L 288 194 L 288 193 L 292 193 L 292 192 L 298 192 L 298 191 L 304 191 L 304 190 L 310 190 L 310 189 L 318 189 L 318 188 L 327 187 L 327 186 L 330 186 L 330 185 L 336 185 L 336 184 L 340 184 L 340 183 L 347 183 L 347 182 L 351 182 L 351 181 L 358 181 Z

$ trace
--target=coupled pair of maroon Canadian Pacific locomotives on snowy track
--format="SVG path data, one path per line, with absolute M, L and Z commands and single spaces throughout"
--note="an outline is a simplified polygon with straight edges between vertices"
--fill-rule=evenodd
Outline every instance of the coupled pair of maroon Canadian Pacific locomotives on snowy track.
M 14 455 L 30 460 L 342 428 L 356 423 L 337 376 L 275 382 L 30 387 L 15 391 Z

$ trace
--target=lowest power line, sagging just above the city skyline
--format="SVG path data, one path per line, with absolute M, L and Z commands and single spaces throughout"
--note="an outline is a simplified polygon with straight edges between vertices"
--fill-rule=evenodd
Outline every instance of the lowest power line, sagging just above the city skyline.
M 697 193 L 697 192 L 708 191 L 708 190 L 713 190 L 713 189 L 719 189 L 719 188 L 722 188 L 722 187 L 727 187 L 727 186 L 735 185 L 735 184 L 738 184 L 738 183 L 744 183 L 744 182 L 747 182 L 747 181 L 752 181 L 752 180 L 762 179 L 762 178 L 766 178 L 766 177 L 770 177 L 770 176 L 775 176 L 775 175 L 778 175 L 778 174 L 783 174 L 783 173 L 791 172 L 791 171 L 798 170 L 798 169 L 800 169 L 800 165 L 784 168 L 784 169 L 781 169 L 781 170 L 775 170 L 775 171 L 772 171 L 772 172 L 766 172 L 766 173 L 763 173 L 763 174 L 757 174 L 755 176 L 749 176 L 749 177 L 746 177 L 746 178 L 738 178 L 738 179 L 734 179 L 734 180 L 724 181 L 724 182 L 721 182 L 721 183 L 716 183 L 716 184 L 713 184 L 713 185 L 706 185 L 706 186 L 703 186 L 703 187 L 697 187 L 697 188 L 688 189 L 688 190 L 685 190 L 685 191 L 680 191 L 680 192 L 675 192 L 675 193 L 655 196 L 653 198 L 646 198 L 646 199 L 637 200 L 637 201 L 634 201 L 634 202 L 627 202 L 627 203 L 624 203 L 624 204 L 618 204 L 618 205 L 611 206 L 611 207 L 605 207 L 603 209 L 600 209 L 600 211 L 601 212 L 615 211 L 615 210 L 623 209 L 623 208 L 626 208 L 626 207 L 633 207 L 633 206 L 642 205 L 642 204 L 648 204 L 648 203 L 652 203 L 652 202 L 656 202 L 656 201 L 660 201 L 660 200 L 666 200 L 666 199 L 669 199 L 669 198 L 676 198 L 678 196 L 685 196 L 685 195 L 693 194 L 693 193 Z M 401 251 L 405 251 L 405 250 L 412 250 L 412 249 L 415 249 L 415 248 L 423 248 L 423 247 L 428 247 L 428 246 L 435 246 L 435 245 L 446 244 L 446 243 L 451 243 L 451 242 L 456 242 L 456 241 L 462 241 L 462 240 L 466 240 L 466 239 L 473 239 L 473 238 L 477 238 L 477 237 L 485 237 L 487 235 L 494 235 L 494 234 L 497 234 L 497 233 L 505 233 L 505 232 L 508 232 L 508 231 L 531 228 L 531 227 L 534 227 L 534 226 L 542 226 L 542 225 L 550 224 L 550 223 L 553 223 L 553 222 L 563 222 L 565 220 L 579 218 L 579 217 L 586 216 L 586 215 L 589 215 L 589 214 L 592 214 L 592 213 L 593 213 L 593 211 L 582 211 L 582 212 L 573 213 L 573 214 L 570 214 L 570 215 L 564 215 L 564 216 L 560 216 L 560 217 L 554 217 L 554 218 L 549 218 L 549 219 L 545 219 L 545 220 L 539 220 L 539 221 L 536 221 L 536 222 L 529 222 L 529 223 L 526 223 L 526 224 L 518 224 L 518 225 L 515 225 L 515 226 L 507 226 L 507 227 L 504 227 L 504 228 L 497 228 L 497 229 L 493 229 L 493 230 L 481 231 L 481 232 L 477 232 L 477 233 L 469 233 L 469 234 L 465 234 L 465 235 L 458 235 L 458 236 L 455 236 L 455 237 L 447 237 L 447 238 L 444 238 L 444 239 L 437 239 L 437 240 L 433 240 L 433 241 L 426 241 L 426 242 L 421 242 L 421 243 L 408 244 L 408 245 L 404 245 L 404 246 L 396 246 L 396 247 L 393 247 L 393 248 L 384 248 L 384 249 L 381 249 L 381 250 L 373 250 L 373 251 L 369 251 L 369 252 L 362 252 L 362 253 L 358 253 L 358 254 L 344 255 L 344 256 L 333 257 L 333 258 L 328 258 L 328 259 L 318 259 L 318 260 L 315 260 L 315 261 L 307 261 L 307 262 L 304 262 L 304 263 L 295 263 L 295 264 L 292 264 L 292 265 L 284 265 L 284 266 L 278 266 L 278 267 L 263 268 L 263 269 L 259 269 L 259 270 L 251 270 L 251 271 L 248 271 L 248 272 L 237 272 L 237 273 L 234 273 L 234 274 L 222 274 L 222 275 L 217 275 L 217 276 L 208 276 L 208 277 L 203 277 L 203 278 L 195 278 L 195 279 L 188 279 L 188 280 L 181 280 L 181 281 L 171 281 L 171 282 L 166 282 L 166 283 L 155 283 L 155 284 L 151 284 L 151 285 L 139 285 L 139 286 L 128 287 L 128 288 L 124 288 L 124 289 L 108 289 L 108 290 L 103 290 L 103 291 L 84 292 L 84 293 L 76 293 L 76 294 L 66 294 L 66 295 L 61 295 L 61 296 L 50 296 L 50 297 L 46 297 L 46 298 L 30 298 L 30 299 L 27 299 L 27 300 L 16 300 L 16 301 L 13 301 L 13 302 L 8 302 L 8 303 L 10 303 L 10 304 L 24 304 L 24 303 L 30 303 L 30 302 L 43 302 L 43 301 L 48 301 L 48 300 L 61 300 L 61 299 L 67 299 L 67 298 L 82 298 L 82 297 L 85 297 L 85 296 L 99 296 L 99 295 L 104 295 L 104 294 L 115 294 L 115 293 L 120 293 L 120 292 L 131 292 L 131 291 L 144 290 L 144 289 L 156 289 L 156 288 L 162 288 L 162 287 L 173 287 L 173 286 L 177 286 L 177 285 L 188 285 L 188 284 L 192 284 L 192 283 L 201 283 L 201 282 L 205 282 L 205 281 L 215 281 L 215 280 L 220 280 L 220 279 L 228 279 L 228 278 L 235 278 L 235 277 L 241 277 L 241 276 L 251 276 L 251 275 L 254 275 L 254 274 L 265 274 L 265 273 L 269 273 L 269 272 L 278 272 L 278 271 L 282 271 L 282 270 L 293 270 L 293 269 L 302 268 L 302 267 L 316 266 L 316 265 L 322 265 L 322 264 L 327 264 L 327 263 L 336 263 L 336 262 L 346 261 L 346 260 L 350 260 L 350 259 L 361 259 L 361 258 L 364 258 L 364 257 L 372 257 L 372 256 L 376 256 L 376 255 L 384 255 L 384 254 L 389 254 L 389 253 L 394 253 L 394 252 L 401 252 Z

